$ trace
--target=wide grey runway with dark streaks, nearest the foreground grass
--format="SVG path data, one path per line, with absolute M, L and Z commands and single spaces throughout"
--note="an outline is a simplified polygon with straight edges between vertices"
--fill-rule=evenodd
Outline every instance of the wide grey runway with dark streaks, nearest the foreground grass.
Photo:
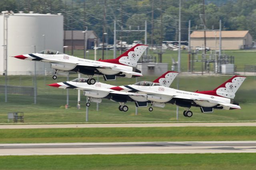
M 256 141 L 0 144 L 0 156 L 256 152 Z

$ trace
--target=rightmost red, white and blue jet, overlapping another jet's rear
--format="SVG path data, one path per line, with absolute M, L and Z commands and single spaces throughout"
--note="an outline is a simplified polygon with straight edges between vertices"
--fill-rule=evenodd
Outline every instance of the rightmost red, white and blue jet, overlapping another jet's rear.
M 241 109 L 239 104 L 234 102 L 233 99 L 245 78 L 244 76 L 233 76 L 214 90 L 202 92 L 187 92 L 164 86 L 156 86 L 155 84 L 145 85 L 141 84 L 141 82 L 128 86 L 116 86 L 110 89 L 122 93 L 141 94 L 141 96 L 138 95 L 133 99 L 143 102 L 142 97 L 144 97 L 147 101 L 151 101 L 152 106 L 164 107 L 165 103 L 171 103 L 184 107 L 183 115 L 191 117 L 193 115 L 192 111 L 190 111 L 192 106 L 200 107 L 202 113 L 212 113 L 213 109 Z M 162 81 L 165 81 L 165 79 Z M 149 111 L 152 110 L 153 107 L 149 107 Z

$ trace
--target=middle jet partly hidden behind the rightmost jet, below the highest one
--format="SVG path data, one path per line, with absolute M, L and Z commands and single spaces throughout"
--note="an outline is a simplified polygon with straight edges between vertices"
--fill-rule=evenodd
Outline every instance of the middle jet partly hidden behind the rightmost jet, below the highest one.
M 169 87 L 177 75 L 178 72 L 168 71 L 156 80 L 154 80 L 154 82 L 142 81 L 136 84 L 140 84 L 141 86 Z M 148 103 L 151 104 L 151 101 L 147 100 L 147 95 L 134 92 L 120 92 L 118 91 L 118 87 L 101 82 L 96 82 L 94 85 L 88 85 L 87 80 L 88 78 L 76 78 L 72 81 L 59 82 L 48 85 L 58 88 L 72 88 L 83 90 L 84 95 L 89 97 L 89 102 L 86 104 L 86 106 L 90 106 L 90 102 L 100 103 L 102 101 L 101 98 L 107 98 L 109 100 L 119 102 L 120 111 L 128 111 L 128 107 L 125 105 L 127 101 L 135 102 L 137 107 L 146 107 L 148 106 Z M 157 107 L 158 105 L 154 104 L 154 106 Z

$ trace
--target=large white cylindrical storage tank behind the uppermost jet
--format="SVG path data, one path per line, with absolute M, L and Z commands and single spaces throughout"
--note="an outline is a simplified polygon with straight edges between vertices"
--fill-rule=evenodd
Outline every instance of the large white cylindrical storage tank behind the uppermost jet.
M 6 20 L 4 20 L 6 18 Z M 7 24 L 6 24 L 7 23 Z M 6 29 L 4 29 L 6 25 Z M 7 31 L 7 36 L 4 35 Z M 0 75 L 4 74 L 4 36 L 7 37 L 7 75 L 34 74 L 35 61 L 22 61 L 12 56 L 31 54 L 44 49 L 63 51 L 63 16 L 51 14 L 0 15 Z M 37 74 L 51 71 L 49 63 L 36 62 Z

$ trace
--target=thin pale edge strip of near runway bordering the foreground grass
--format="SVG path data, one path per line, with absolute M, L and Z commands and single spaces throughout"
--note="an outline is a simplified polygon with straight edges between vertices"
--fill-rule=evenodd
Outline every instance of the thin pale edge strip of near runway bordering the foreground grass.
M 256 153 L 255 151 L 195 151 L 195 152 L 98 152 L 98 153 L 32 153 L 32 154 L 0 154 L 0 156 L 33 156 L 33 155 L 91 155 L 91 154 L 195 154 L 195 153 Z

